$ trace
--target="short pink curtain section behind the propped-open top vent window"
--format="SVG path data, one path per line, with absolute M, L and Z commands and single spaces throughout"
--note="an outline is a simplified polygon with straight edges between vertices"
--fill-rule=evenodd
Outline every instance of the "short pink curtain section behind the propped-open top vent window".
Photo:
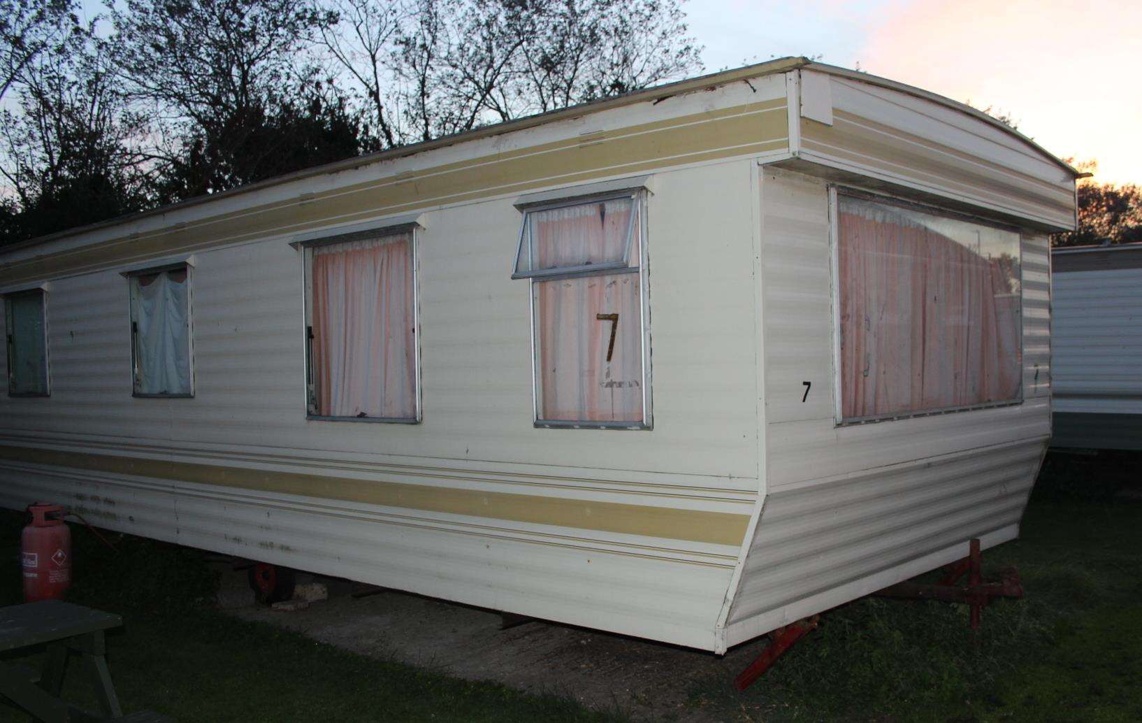
M 611 199 L 529 212 L 532 270 L 622 260 L 633 209 L 632 199 Z

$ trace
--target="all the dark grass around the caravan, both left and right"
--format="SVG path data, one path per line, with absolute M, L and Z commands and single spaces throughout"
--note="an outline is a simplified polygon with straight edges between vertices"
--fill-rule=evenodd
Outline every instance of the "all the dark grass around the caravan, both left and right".
M 984 554 L 986 572 L 1018 565 L 1027 596 L 984 610 L 979 634 L 966 608 L 860 600 L 822 616 L 746 693 L 725 677 L 695 686 L 691 710 L 727 721 L 1142 721 L 1142 504 L 1096 499 L 1109 488 L 1092 496 L 1080 477 L 1099 471 L 1084 464 L 1048 465 L 1022 537 Z M 0 604 L 19 602 L 21 525 L 0 513 Z M 118 535 L 111 553 L 78 525 L 73 535 L 85 562 L 71 599 L 127 621 L 108 657 L 128 712 L 184 723 L 621 717 L 239 620 L 207 604 L 216 581 L 200 553 Z M 70 697 L 94 709 L 77 678 Z M 27 718 L 0 705 L 9 720 Z

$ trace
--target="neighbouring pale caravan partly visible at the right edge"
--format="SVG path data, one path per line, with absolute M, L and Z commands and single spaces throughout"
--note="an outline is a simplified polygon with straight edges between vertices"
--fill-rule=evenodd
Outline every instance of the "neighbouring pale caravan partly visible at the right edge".
M 1055 447 L 1142 449 L 1142 243 L 1054 249 Z

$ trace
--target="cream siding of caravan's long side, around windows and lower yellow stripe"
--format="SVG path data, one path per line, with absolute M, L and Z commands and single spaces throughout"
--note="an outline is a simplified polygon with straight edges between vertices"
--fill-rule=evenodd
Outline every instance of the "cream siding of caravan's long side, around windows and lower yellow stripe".
M 758 487 L 751 167 L 656 175 L 653 432 L 532 427 L 529 291 L 509 279 L 520 215 L 499 199 L 431 211 L 418 236 L 420 425 L 305 420 L 301 260 L 286 240 L 195 256 L 194 399 L 131 397 L 115 270 L 53 281 L 53 395 L 0 399 L 0 444 L 160 459 L 176 479 L 9 458 L 0 504 L 49 498 L 112 529 L 713 649 L 739 544 L 513 521 L 493 496 L 581 500 L 588 515 L 611 504 L 724 513 L 745 528 Z M 225 467 L 228 485 L 180 481 L 183 463 Z M 243 469 L 491 501 L 486 516 L 346 504 L 242 489 Z

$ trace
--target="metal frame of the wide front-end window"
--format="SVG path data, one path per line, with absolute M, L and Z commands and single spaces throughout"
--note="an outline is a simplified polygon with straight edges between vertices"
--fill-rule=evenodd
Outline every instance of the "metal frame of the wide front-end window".
M 940 407 L 908 412 L 892 412 L 885 415 L 871 415 L 868 417 L 844 417 L 842 410 L 843 385 L 842 379 L 842 351 L 841 351 L 841 196 L 850 196 L 863 201 L 895 206 L 914 211 L 930 214 L 941 218 L 960 220 L 990 228 L 999 228 L 1014 233 L 1019 236 L 1019 393 L 1015 399 L 980 402 L 978 404 L 962 404 L 956 407 Z M 829 207 L 829 286 L 833 306 L 833 405 L 834 427 L 851 427 L 858 425 L 876 424 L 880 421 L 894 421 L 901 419 L 912 419 L 917 417 L 934 417 L 938 415 L 949 415 L 964 411 L 979 411 L 984 409 L 999 409 L 1003 407 L 1018 407 L 1027 397 L 1027 373 L 1023 368 L 1024 338 L 1023 338 L 1023 230 L 1010 223 L 1004 223 L 984 216 L 956 211 L 946 207 L 932 203 L 919 203 L 912 199 L 892 195 L 887 193 L 876 193 L 856 186 L 844 184 L 828 185 Z

